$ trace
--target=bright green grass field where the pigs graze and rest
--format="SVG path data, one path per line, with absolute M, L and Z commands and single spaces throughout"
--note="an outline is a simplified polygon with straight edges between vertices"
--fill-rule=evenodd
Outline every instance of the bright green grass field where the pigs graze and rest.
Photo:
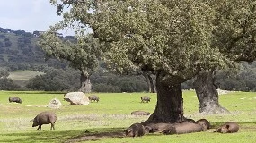
M 133 116 L 132 111 L 152 113 L 156 94 L 147 93 L 97 93 L 99 103 L 68 105 L 64 93 L 40 91 L 0 91 L 0 142 L 93 142 L 93 143 L 255 143 L 256 142 L 256 93 L 232 92 L 220 96 L 220 104 L 232 114 L 198 114 L 199 103 L 194 91 L 184 91 L 184 115 L 198 120 L 206 118 L 212 129 L 206 132 L 163 135 L 147 134 L 139 138 L 122 138 L 120 132 L 135 122 L 143 122 L 148 116 Z M 149 95 L 150 103 L 140 103 L 140 97 Z M 22 98 L 22 104 L 9 103 L 8 97 Z M 62 102 L 60 109 L 46 107 L 57 97 Z M 30 122 L 42 111 L 57 114 L 56 130 L 43 125 L 41 131 L 31 127 Z M 223 122 L 235 121 L 240 130 L 233 134 L 214 133 Z

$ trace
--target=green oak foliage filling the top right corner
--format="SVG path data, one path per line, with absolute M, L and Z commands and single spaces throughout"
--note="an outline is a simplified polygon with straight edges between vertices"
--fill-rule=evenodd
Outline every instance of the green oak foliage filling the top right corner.
M 214 46 L 234 61 L 255 60 L 256 2 L 216 0 Z

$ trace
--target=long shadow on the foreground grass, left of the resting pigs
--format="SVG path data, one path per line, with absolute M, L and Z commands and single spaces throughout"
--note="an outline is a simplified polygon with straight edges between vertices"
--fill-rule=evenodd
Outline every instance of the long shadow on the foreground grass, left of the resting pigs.
M 124 128 L 101 128 L 90 130 L 32 130 L 24 133 L 4 134 L 7 138 L 0 139 L 0 142 L 78 142 L 99 140 L 102 138 L 123 138 Z

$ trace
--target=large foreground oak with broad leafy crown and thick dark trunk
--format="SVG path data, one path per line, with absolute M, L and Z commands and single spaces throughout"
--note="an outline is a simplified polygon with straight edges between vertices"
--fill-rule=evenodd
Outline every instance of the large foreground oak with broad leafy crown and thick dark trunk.
M 74 21 L 80 36 L 84 27 L 93 29 L 111 70 L 156 73 L 157 103 L 147 122 L 182 122 L 181 83 L 202 69 L 229 62 L 211 46 L 215 9 L 205 1 L 63 0 L 57 13 L 64 20 L 51 30 L 65 29 Z

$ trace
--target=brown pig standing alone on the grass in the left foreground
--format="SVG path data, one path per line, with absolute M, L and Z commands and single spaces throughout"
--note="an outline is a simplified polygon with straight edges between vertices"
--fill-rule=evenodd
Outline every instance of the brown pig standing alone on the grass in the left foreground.
M 42 112 L 40 114 L 38 114 L 32 121 L 33 121 L 33 125 L 32 127 L 36 127 L 39 126 L 39 128 L 37 130 L 41 130 L 41 126 L 42 124 L 51 124 L 50 130 L 55 130 L 54 128 L 54 124 L 57 120 L 56 114 L 51 113 L 51 112 Z

